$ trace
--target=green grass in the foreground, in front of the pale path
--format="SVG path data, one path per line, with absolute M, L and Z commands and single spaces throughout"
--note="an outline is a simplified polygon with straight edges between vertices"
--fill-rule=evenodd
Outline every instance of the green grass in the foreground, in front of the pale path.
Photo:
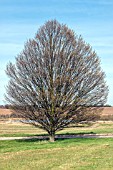
M 111 170 L 113 139 L 0 141 L 0 170 Z

